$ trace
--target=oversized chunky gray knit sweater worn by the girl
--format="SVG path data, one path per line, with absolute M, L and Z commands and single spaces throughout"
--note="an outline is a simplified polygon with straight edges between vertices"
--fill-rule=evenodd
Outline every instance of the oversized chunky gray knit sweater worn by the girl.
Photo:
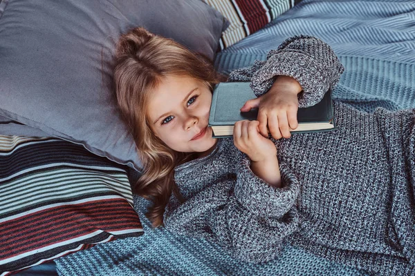
M 326 43 L 299 36 L 229 81 L 251 81 L 260 96 L 275 75 L 289 75 L 304 88 L 303 107 L 320 101 L 343 70 Z M 185 201 L 172 195 L 165 227 L 247 262 L 276 258 L 289 243 L 368 273 L 415 275 L 415 110 L 371 114 L 333 103 L 335 130 L 272 139 L 282 188 L 253 174 L 232 138 L 176 167 Z

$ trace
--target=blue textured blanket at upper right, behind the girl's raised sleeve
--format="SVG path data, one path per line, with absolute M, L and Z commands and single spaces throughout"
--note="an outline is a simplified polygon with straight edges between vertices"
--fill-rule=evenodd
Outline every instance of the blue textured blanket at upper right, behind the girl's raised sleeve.
M 307 0 L 299 5 L 220 52 L 216 68 L 230 72 L 249 66 L 255 59 L 265 59 L 266 52 L 285 37 L 309 34 L 329 43 L 346 68 L 334 99 L 367 112 L 376 107 L 414 107 L 413 1 Z

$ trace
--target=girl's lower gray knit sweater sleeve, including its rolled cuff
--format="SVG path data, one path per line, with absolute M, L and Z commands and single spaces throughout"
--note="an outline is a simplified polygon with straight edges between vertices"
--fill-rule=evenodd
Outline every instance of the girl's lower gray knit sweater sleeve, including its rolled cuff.
M 238 166 L 235 179 L 210 185 L 182 204 L 169 204 L 165 228 L 208 239 L 246 262 L 275 259 L 286 237 L 299 227 L 294 206 L 298 181 L 288 166 L 282 165 L 284 187 L 273 188 L 250 170 L 248 159 Z

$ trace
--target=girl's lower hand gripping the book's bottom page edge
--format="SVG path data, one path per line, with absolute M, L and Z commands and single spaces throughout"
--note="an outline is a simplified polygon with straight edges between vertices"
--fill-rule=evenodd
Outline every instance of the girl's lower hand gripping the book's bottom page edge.
M 275 159 L 277 147 L 259 133 L 259 121 L 242 120 L 234 124 L 234 145 L 254 161 Z

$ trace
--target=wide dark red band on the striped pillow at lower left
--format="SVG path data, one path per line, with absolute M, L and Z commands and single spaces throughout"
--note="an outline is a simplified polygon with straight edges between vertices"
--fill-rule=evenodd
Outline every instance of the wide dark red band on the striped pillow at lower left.
M 74 221 L 76 225 L 73 225 Z M 131 229 L 142 229 L 142 226 L 137 213 L 124 199 L 102 199 L 46 208 L 0 223 L 0 260 L 68 239 L 82 239 L 96 230 L 113 232 Z M 12 244 L 8 242 L 10 240 Z

